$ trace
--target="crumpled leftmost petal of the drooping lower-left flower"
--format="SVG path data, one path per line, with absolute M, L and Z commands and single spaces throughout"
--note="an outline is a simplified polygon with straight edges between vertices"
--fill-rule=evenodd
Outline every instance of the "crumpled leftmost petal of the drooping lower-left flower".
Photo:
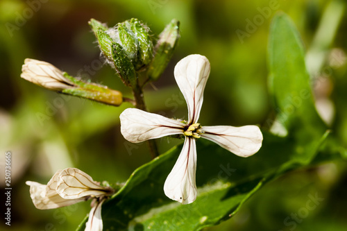
M 51 180 L 49 180 L 47 185 L 42 185 L 33 181 L 26 182 L 26 185 L 30 186 L 30 196 L 37 209 L 55 209 L 57 207 L 72 205 L 84 200 L 84 198 L 67 200 L 59 196 L 55 187 L 57 185 L 56 180 L 60 172 L 61 170 L 57 171 Z

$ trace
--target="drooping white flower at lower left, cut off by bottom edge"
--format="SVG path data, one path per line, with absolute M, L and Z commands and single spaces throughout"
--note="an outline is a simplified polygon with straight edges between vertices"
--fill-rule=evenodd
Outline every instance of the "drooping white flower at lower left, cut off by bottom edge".
M 30 186 L 31 199 L 37 209 L 55 209 L 93 198 L 85 231 L 103 230 L 101 205 L 105 198 L 115 192 L 110 187 L 94 182 L 87 173 L 74 168 L 58 170 L 47 185 L 33 181 L 27 181 L 26 185 Z

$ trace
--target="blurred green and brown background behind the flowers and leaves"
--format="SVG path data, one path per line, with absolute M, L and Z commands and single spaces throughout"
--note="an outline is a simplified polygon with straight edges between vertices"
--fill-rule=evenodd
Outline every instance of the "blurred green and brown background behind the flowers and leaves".
M 2 220 L 1 230 L 74 230 L 90 210 L 90 203 L 35 209 L 26 180 L 46 184 L 56 170 L 77 167 L 94 180 L 124 182 L 151 160 L 146 144 L 131 144 L 121 136 L 119 114 L 129 104 L 113 108 L 37 87 L 20 78 L 25 58 L 51 62 L 72 76 L 131 96 L 115 72 L 102 65 L 87 22 L 94 18 L 114 26 L 136 17 L 155 37 L 176 18 L 180 42 L 162 78 L 145 89 L 149 110 L 187 117 L 186 103 L 174 81 L 174 65 L 186 55 L 199 53 L 212 67 L 200 122 L 258 124 L 269 129 L 274 109 L 266 83 L 266 48 L 271 18 L 282 10 L 294 20 L 306 49 L 316 52 L 312 62 L 319 67 L 310 66 L 316 99 L 323 102 L 322 112 L 334 115 L 328 123 L 346 147 L 344 7 L 344 1 L 323 0 L 1 0 L 1 174 L 4 153 L 12 152 L 12 223 L 8 227 Z M 323 33 L 316 34 L 319 25 Z M 180 141 L 163 138 L 157 143 L 163 153 Z M 255 194 L 235 217 L 205 230 L 345 230 L 346 183 L 346 162 L 288 173 Z M 307 201 L 316 194 L 324 200 L 307 209 Z M 296 221 L 292 214 L 305 217 Z

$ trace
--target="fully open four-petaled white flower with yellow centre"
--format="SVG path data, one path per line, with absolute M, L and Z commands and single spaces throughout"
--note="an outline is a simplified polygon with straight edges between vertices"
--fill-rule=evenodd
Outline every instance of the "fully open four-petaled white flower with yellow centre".
M 183 149 L 164 183 L 165 195 L 183 204 L 192 203 L 197 194 L 195 139 L 210 139 L 241 157 L 253 155 L 262 146 L 262 132 L 257 126 L 201 126 L 198 123 L 209 74 L 210 62 L 202 55 L 188 55 L 175 67 L 176 82 L 188 105 L 187 123 L 135 108 L 128 108 L 120 115 L 121 134 L 129 142 L 185 135 Z

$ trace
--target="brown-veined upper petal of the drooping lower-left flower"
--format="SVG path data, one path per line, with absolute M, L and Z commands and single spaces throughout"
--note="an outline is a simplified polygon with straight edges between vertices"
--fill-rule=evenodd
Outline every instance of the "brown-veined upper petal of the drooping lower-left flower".
M 59 174 L 56 191 L 62 198 L 75 199 L 99 197 L 110 194 L 112 189 L 96 184 L 91 176 L 80 169 L 67 168 Z

